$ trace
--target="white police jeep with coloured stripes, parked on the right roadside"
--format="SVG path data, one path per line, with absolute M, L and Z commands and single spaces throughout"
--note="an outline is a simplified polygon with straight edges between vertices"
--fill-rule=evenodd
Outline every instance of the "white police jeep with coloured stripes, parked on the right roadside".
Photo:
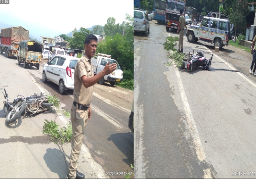
M 203 17 L 199 26 L 188 27 L 188 41 L 202 40 L 214 44 L 219 50 L 225 45 L 229 45 L 231 31 L 229 20 L 215 17 Z

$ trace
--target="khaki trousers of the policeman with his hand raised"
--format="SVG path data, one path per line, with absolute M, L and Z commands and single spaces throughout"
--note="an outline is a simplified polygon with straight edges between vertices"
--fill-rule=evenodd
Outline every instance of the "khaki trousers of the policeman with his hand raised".
M 88 110 L 78 110 L 77 104 L 72 104 L 71 108 L 71 124 L 72 124 L 72 143 L 71 154 L 68 166 L 69 178 L 76 178 L 77 160 L 81 152 L 82 141 L 84 138 L 84 129 L 88 121 Z

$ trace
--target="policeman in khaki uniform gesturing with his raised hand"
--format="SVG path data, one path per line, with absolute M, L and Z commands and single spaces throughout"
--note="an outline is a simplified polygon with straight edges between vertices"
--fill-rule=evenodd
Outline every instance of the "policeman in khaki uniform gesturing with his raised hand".
M 115 71 L 117 64 L 109 64 L 94 75 L 91 58 L 94 57 L 98 39 L 96 36 L 87 35 L 84 40 L 85 54 L 76 63 L 74 73 L 74 102 L 71 108 L 72 144 L 68 166 L 68 178 L 84 178 L 84 174 L 77 171 L 77 160 L 80 155 L 84 129 L 87 121 L 91 119 L 90 102 L 92 100 L 93 85 L 102 77 Z

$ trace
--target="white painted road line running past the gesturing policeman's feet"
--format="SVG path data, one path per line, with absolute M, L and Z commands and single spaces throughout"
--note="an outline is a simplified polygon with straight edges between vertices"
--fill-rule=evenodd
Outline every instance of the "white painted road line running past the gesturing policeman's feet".
M 27 70 L 25 71 L 29 73 Z M 44 90 L 36 83 L 35 79 L 30 74 L 29 76 L 31 77 L 32 81 L 35 82 L 35 84 L 41 90 L 41 92 L 44 93 Z M 63 117 L 63 115 L 61 115 L 59 111 L 57 111 L 57 115 L 59 116 L 59 118 L 61 119 L 64 125 L 68 123 L 68 121 Z M 81 152 L 86 162 L 88 162 L 88 164 L 92 166 L 92 169 L 96 171 L 95 174 L 97 175 L 98 178 L 109 178 L 106 175 L 106 172 L 104 171 L 102 166 L 93 160 L 92 155 L 90 154 L 89 148 L 84 143 L 81 146 Z

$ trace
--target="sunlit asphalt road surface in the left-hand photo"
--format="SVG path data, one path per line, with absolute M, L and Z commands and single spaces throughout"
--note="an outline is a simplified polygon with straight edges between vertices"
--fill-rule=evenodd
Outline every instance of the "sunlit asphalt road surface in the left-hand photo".
M 16 57 L 6 58 L 0 55 L 0 90 L 6 89 L 12 101 L 18 94 L 30 96 L 44 91 L 47 95 L 56 95 L 60 102 L 61 116 L 54 112 L 43 112 L 8 125 L 0 108 L 0 146 L 3 178 L 66 178 L 71 144 L 63 146 L 65 154 L 57 144 L 43 135 L 43 122 L 55 120 L 63 127 L 70 119 L 63 110 L 70 112 L 73 102 L 72 90 L 64 95 L 59 93 L 58 85 L 42 82 L 43 60 L 40 69 L 23 68 Z M 0 95 L 0 101 L 4 96 Z M 133 133 L 128 128 L 133 91 L 109 84 L 94 86 L 92 99 L 92 119 L 88 121 L 84 144 L 78 160 L 78 171 L 86 178 L 124 178 L 125 172 L 133 173 Z M 118 172 L 118 175 L 115 175 Z M 131 176 L 133 178 L 133 176 Z

